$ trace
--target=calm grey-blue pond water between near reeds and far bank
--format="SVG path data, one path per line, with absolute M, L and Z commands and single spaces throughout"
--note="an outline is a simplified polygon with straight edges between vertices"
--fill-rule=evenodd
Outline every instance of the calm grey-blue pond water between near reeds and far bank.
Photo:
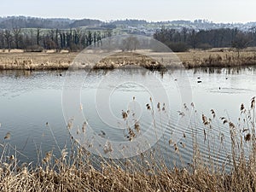
M 219 118 L 237 123 L 241 103 L 248 108 L 255 96 L 255 73 L 255 67 L 1 71 L 0 143 L 9 145 L 6 154 L 16 151 L 20 162 L 35 164 L 73 137 L 90 152 L 113 158 L 157 148 L 172 165 L 191 162 L 196 136 L 202 154 L 221 164 L 230 154 L 230 130 Z M 211 129 L 202 114 L 212 119 Z

